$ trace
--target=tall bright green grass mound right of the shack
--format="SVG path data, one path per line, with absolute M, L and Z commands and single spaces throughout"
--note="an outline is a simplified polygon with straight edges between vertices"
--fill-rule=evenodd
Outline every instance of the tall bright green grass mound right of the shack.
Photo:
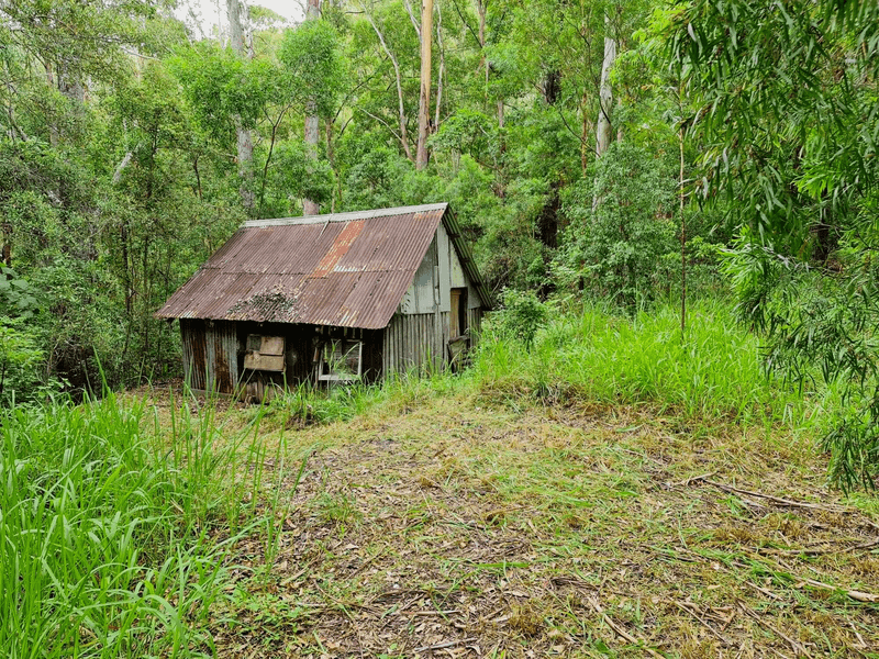
M 757 337 L 720 301 L 693 305 L 683 339 L 672 305 L 632 317 L 601 304 L 556 314 L 530 351 L 489 328 L 470 377 L 500 396 L 526 391 L 736 422 L 810 421 L 800 392 L 766 373 Z

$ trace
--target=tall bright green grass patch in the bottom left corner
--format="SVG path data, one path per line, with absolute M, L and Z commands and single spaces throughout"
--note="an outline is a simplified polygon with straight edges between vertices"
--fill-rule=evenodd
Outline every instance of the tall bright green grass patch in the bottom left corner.
M 235 538 L 210 522 L 241 514 L 222 483 L 253 428 L 218 443 L 214 418 L 181 415 L 159 447 L 146 412 L 112 395 L 0 411 L 2 656 L 211 655 Z

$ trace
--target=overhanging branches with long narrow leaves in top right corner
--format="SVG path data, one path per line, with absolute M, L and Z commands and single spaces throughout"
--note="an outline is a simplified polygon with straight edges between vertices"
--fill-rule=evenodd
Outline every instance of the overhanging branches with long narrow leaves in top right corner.
M 831 213 L 844 223 L 876 180 L 879 9 L 835 0 L 681 2 L 668 43 L 702 104 L 705 194 L 795 253 Z M 747 145 L 747 148 L 742 148 Z

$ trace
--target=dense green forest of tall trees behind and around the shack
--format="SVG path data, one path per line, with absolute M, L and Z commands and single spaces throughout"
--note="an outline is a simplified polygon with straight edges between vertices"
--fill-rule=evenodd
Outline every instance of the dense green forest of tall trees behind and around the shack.
M 179 373 L 152 314 L 246 219 L 448 201 L 501 300 L 734 300 L 879 462 L 875 3 L 218 9 L 0 2 L 4 404 Z

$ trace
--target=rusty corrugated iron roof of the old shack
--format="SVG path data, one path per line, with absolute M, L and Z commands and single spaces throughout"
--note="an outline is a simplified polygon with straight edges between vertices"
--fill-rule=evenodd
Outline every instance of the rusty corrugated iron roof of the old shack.
M 448 204 L 436 203 L 245 222 L 156 316 L 385 327 L 441 221 L 489 306 Z

